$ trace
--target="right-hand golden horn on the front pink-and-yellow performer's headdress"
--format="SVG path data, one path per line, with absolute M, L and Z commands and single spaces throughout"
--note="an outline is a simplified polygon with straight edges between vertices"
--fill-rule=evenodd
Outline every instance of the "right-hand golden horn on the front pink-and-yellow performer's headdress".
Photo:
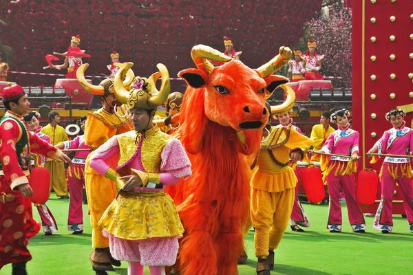
M 169 72 L 167 67 L 162 63 L 156 65 L 159 72 L 152 74 L 148 78 L 148 82 L 151 83 L 151 96 L 148 98 L 148 104 L 151 107 L 158 107 L 162 105 L 169 96 L 169 91 L 171 91 L 171 83 L 169 82 Z M 156 80 L 161 77 L 162 84 L 160 85 L 160 90 L 156 89 Z

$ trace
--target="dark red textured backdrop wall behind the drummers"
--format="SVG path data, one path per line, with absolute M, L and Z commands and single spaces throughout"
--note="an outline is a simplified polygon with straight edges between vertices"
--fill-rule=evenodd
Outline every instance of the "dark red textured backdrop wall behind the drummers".
M 10 2 L 10 1 L 9 1 Z M 193 45 L 224 50 L 229 36 L 242 61 L 259 67 L 280 45 L 293 47 L 304 34 L 303 23 L 316 16 L 321 0 L 19 0 L 0 1 L 0 36 L 14 49 L 11 70 L 43 72 L 44 56 L 65 52 L 70 37 L 81 36 L 81 49 L 92 58 L 89 74 L 108 73 L 109 54 L 135 63 L 141 76 L 156 63 L 167 65 L 171 77 L 193 67 Z M 56 73 L 55 70 L 48 72 Z M 22 85 L 52 85 L 54 78 L 14 76 Z M 181 83 L 183 85 L 183 83 Z

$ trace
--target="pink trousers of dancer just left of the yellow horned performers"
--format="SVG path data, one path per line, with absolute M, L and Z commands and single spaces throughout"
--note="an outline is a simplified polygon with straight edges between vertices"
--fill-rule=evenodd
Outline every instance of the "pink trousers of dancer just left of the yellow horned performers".
M 67 230 L 80 231 L 83 230 L 83 186 L 85 185 L 85 177 L 83 174 L 84 165 L 72 164 L 72 170 L 67 170 L 67 181 L 69 183 L 70 201 L 69 201 L 69 216 L 67 217 Z M 79 166 L 79 167 L 76 167 Z M 80 173 L 74 173 L 74 170 Z M 70 175 L 71 174 L 71 175 Z M 79 179 L 79 178 L 80 179 Z

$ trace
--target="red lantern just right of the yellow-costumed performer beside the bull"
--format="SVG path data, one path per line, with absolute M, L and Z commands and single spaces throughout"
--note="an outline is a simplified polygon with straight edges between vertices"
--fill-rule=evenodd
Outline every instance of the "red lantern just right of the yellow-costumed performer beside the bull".
M 317 203 L 322 201 L 326 197 L 324 192 L 323 177 L 321 176 L 321 170 L 315 166 L 308 166 L 303 170 L 303 184 L 304 190 L 306 190 L 306 197 L 308 201 Z

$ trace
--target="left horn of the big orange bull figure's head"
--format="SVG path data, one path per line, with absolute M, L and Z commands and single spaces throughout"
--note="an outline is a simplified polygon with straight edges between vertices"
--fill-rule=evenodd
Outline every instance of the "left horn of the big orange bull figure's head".
M 206 45 L 194 46 L 191 50 L 191 58 L 198 69 L 206 70 L 209 74 L 211 74 L 214 67 L 208 59 L 220 62 L 228 62 L 232 60 L 231 57 Z

